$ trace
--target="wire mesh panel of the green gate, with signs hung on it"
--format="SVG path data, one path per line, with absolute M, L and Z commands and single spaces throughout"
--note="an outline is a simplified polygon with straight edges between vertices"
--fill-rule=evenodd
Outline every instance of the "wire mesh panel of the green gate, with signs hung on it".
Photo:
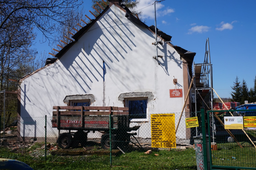
M 207 116 L 207 132 L 216 146 L 209 151 L 211 167 L 256 169 L 256 110 L 208 111 Z

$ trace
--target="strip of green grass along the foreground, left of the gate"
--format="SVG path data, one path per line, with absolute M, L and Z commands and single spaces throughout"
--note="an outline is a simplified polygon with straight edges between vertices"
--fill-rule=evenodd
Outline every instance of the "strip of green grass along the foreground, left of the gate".
M 40 144 L 34 145 L 33 150 Z M 24 152 L 25 150 L 23 150 Z M 29 150 L 27 149 L 27 152 Z M 41 155 L 44 153 L 40 151 Z M 159 156 L 155 156 L 159 154 Z M 11 149 L 1 148 L 0 157 L 16 159 L 27 163 L 35 170 L 143 170 L 143 169 L 196 169 L 195 151 L 193 148 L 186 150 L 172 149 L 170 152 L 161 150 L 149 155 L 144 152 L 133 151 L 130 153 L 113 156 L 110 166 L 110 157 L 107 156 L 53 156 L 48 155 L 47 161 L 44 157 L 34 158 L 29 154 L 13 153 Z

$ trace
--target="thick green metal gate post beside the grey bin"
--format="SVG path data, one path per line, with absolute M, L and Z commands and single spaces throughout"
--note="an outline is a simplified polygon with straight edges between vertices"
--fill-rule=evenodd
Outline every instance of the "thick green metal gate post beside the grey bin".
M 203 167 L 207 170 L 207 147 L 206 147 L 206 127 L 205 127 L 205 114 L 204 107 L 201 107 L 201 121 L 202 121 L 202 135 L 203 135 Z

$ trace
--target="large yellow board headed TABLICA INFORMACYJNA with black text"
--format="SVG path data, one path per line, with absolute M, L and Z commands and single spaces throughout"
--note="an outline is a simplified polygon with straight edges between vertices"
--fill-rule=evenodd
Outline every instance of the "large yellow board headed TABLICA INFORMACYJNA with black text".
M 151 144 L 158 148 L 176 148 L 175 114 L 151 115 Z

